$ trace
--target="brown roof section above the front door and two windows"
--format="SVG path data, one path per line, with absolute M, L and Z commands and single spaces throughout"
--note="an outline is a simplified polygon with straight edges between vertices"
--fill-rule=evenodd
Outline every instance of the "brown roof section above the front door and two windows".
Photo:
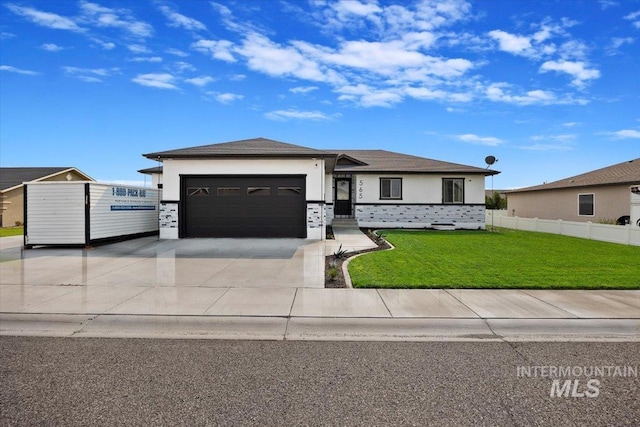
M 345 173 L 473 173 L 500 172 L 385 150 L 327 150 L 338 155 L 336 172 Z M 343 161 L 345 160 L 345 161 Z M 354 162 L 353 160 L 356 160 Z M 362 164 L 358 164 L 362 163 Z

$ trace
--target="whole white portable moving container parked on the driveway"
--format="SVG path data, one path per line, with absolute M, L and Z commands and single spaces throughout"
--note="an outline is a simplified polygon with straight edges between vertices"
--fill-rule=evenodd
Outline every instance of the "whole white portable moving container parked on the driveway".
M 90 246 L 158 233 L 159 191 L 97 182 L 24 185 L 24 246 Z

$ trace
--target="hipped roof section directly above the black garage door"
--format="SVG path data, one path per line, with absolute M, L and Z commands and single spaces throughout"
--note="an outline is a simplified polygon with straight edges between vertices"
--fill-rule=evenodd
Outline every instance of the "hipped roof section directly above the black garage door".
M 152 160 L 207 157 L 335 157 L 326 151 L 266 138 L 244 139 L 144 154 Z

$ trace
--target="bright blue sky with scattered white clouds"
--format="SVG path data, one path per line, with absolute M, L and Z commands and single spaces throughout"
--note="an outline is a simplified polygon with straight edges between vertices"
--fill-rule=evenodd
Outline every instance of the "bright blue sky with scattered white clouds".
M 8 0 L 0 32 L 2 166 L 141 182 L 265 137 L 515 188 L 640 157 L 638 0 Z

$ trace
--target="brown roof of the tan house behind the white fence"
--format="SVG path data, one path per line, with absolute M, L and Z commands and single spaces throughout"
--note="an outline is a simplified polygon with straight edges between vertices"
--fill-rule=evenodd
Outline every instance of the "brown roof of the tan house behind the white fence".
M 607 166 L 581 175 L 564 178 L 533 187 L 511 190 L 509 193 L 524 193 L 527 191 L 552 190 L 558 188 L 591 187 L 599 185 L 632 185 L 640 184 L 640 158 Z

